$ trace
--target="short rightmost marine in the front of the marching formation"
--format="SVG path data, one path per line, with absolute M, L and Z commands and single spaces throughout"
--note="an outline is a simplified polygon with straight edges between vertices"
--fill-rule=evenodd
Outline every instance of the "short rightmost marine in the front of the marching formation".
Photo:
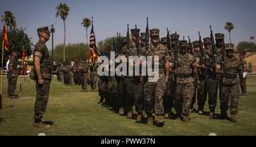
M 227 110 L 228 104 L 230 100 L 230 114 L 231 114 L 231 122 L 237 122 L 237 111 L 238 111 L 238 100 L 240 97 L 240 89 L 239 89 L 239 79 L 237 75 L 240 77 L 243 75 L 243 70 L 241 67 L 241 62 L 239 59 L 233 56 L 234 53 L 234 45 L 226 44 L 226 58 L 224 63 L 224 71 L 220 70 L 220 67 L 216 68 L 216 73 L 222 75 L 222 83 L 221 83 L 221 97 L 220 97 L 220 107 L 221 107 L 221 118 L 227 119 Z M 221 64 L 218 62 L 218 64 Z

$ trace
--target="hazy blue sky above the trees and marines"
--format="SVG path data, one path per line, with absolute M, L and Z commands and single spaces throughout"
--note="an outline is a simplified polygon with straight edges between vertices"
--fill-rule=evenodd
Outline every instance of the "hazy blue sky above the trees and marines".
M 147 17 L 150 29 L 159 28 L 161 37 L 166 37 L 168 27 L 171 33 L 177 31 L 185 39 L 189 35 L 195 41 L 199 39 L 198 31 L 202 37 L 209 36 L 211 24 L 213 32 L 224 33 L 226 42 L 229 42 L 228 31 L 224 29 L 227 21 L 235 25 L 231 33 L 235 45 L 240 41 L 249 41 L 250 36 L 256 37 L 255 0 L 1 0 L 0 14 L 6 10 L 12 11 L 18 27 L 27 28 L 26 33 L 32 37 L 34 44 L 38 41 L 36 29 L 56 21 L 54 43 L 57 45 L 64 40 L 63 20 L 55 17 L 56 6 L 60 2 L 71 7 L 66 20 L 67 43 L 86 42 L 81 21 L 92 16 L 97 41 L 115 36 L 117 32 L 125 36 L 127 23 L 130 28 L 135 28 L 137 24 L 141 32 L 145 32 Z M 0 24 L 2 26 L 2 22 Z M 47 46 L 51 49 L 51 40 Z

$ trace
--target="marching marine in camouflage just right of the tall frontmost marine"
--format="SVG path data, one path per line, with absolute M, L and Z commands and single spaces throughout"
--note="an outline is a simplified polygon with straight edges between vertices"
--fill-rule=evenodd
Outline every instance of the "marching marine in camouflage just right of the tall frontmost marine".
M 187 53 L 188 44 L 187 41 L 183 40 L 179 43 L 180 52 L 177 54 L 177 71 L 175 67 L 175 57 L 172 55 L 171 58 L 171 72 L 175 74 L 175 109 L 178 118 L 182 118 L 183 114 L 184 122 L 189 122 L 189 109 L 191 107 L 192 97 L 195 93 L 193 82 L 195 81 L 194 75 L 196 76 L 197 83 L 200 84 L 199 77 L 197 74 L 197 68 L 195 64 L 195 58 L 193 55 Z

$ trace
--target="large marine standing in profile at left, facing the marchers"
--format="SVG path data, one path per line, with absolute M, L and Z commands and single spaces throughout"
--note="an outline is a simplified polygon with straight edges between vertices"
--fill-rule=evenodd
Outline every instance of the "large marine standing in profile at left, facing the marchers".
M 38 28 L 38 34 L 40 40 L 35 45 L 34 49 L 34 62 L 35 58 L 40 58 L 40 70 L 41 73 L 37 74 L 36 78 L 36 101 L 35 101 L 35 124 L 36 127 L 49 127 L 42 123 L 43 113 L 46 111 L 49 88 L 51 84 L 51 60 L 49 58 L 49 51 L 46 46 L 46 41 L 49 40 L 49 29 L 48 27 Z M 48 36 L 47 36 L 48 35 Z M 48 40 L 43 37 L 48 37 Z M 34 63 L 35 64 L 35 63 Z M 39 84 L 43 79 L 43 84 Z

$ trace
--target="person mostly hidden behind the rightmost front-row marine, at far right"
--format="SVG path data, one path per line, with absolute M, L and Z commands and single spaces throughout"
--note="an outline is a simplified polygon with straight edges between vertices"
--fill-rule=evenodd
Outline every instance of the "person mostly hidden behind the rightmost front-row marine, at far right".
M 245 60 L 245 53 L 240 54 L 241 67 L 243 72 L 247 72 L 247 62 Z M 242 90 L 241 96 L 246 96 L 246 77 L 240 78 L 240 88 Z

